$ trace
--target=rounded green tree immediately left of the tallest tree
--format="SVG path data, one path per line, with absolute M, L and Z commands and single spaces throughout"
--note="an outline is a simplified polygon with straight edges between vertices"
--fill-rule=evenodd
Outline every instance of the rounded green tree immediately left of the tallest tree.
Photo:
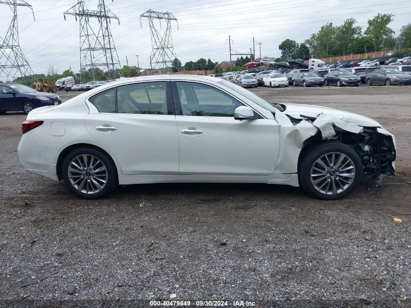
M 354 46 L 358 38 L 361 36 L 361 27 L 356 26 L 357 20 L 354 18 L 346 19 L 342 25 L 336 29 L 336 55 L 350 54 L 353 52 Z

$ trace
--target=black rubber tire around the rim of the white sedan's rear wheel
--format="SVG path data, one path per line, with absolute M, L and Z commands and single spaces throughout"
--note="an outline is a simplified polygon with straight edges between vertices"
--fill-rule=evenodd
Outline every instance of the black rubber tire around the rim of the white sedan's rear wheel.
M 94 156 L 95 158 L 100 160 L 102 163 L 104 163 L 107 169 L 106 185 L 100 191 L 96 193 L 87 194 L 87 193 L 77 190 L 77 188 L 73 186 L 73 184 L 71 183 L 69 179 L 68 168 L 69 168 L 69 164 L 71 163 L 71 160 L 82 154 Z M 66 155 L 66 157 L 63 160 L 63 163 L 61 164 L 61 174 L 62 174 L 63 181 L 65 182 L 67 188 L 69 188 L 69 190 L 74 195 L 80 198 L 83 198 L 83 199 L 99 199 L 99 198 L 107 197 L 118 186 L 117 168 L 115 167 L 113 161 L 105 152 L 99 149 L 93 148 L 93 147 L 82 146 L 82 147 L 78 147 L 78 148 L 71 150 Z

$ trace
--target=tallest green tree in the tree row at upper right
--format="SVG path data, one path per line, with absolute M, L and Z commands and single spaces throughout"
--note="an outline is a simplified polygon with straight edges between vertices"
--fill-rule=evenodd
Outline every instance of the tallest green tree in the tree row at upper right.
M 373 19 L 368 20 L 368 27 L 364 34 L 371 37 L 375 51 L 392 48 L 395 44 L 394 31 L 388 25 L 393 21 L 392 14 L 378 13 Z

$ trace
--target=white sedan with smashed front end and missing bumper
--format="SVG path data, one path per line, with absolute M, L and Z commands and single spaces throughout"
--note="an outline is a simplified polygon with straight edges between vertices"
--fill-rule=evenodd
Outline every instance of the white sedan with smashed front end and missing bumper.
M 253 182 L 340 199 L 362 177 L 394 174 L 395 139 L 376 121 L 336 109 L 274 104 L 207 76 L 112 82 L 22 124 L 18 155 L 77 196 L 117 185 Z

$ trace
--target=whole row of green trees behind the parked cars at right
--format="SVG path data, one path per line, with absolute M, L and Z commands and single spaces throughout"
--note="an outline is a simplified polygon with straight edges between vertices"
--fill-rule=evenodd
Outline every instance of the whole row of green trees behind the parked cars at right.
M 411 23 L 401 28 L 399 36 L 389 27 L 392 14 L 380 14 L 368 20 L 367 28 L 357 25 L 355 18 L 348 18 L 340 25 L 327 22 L 303 43 L 286 39 L 278 48 L 282 59 L 299 58 L 308 60 L 310 56 L 326 58 L 338 55 L 362 54 L 395 48 L 411 47 Z M 406 51 L 406 54 L 408 52 Z

